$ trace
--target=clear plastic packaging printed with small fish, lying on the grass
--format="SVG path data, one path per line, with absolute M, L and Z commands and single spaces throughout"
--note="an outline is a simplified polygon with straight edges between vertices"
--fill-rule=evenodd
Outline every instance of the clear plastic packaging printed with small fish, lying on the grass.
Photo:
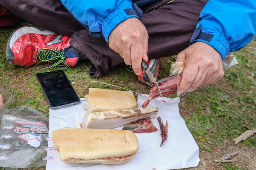
M 29 107 L 14 108 L 2 116 L 0 166 L 28 168 L 46 165 L 47 117 Z

